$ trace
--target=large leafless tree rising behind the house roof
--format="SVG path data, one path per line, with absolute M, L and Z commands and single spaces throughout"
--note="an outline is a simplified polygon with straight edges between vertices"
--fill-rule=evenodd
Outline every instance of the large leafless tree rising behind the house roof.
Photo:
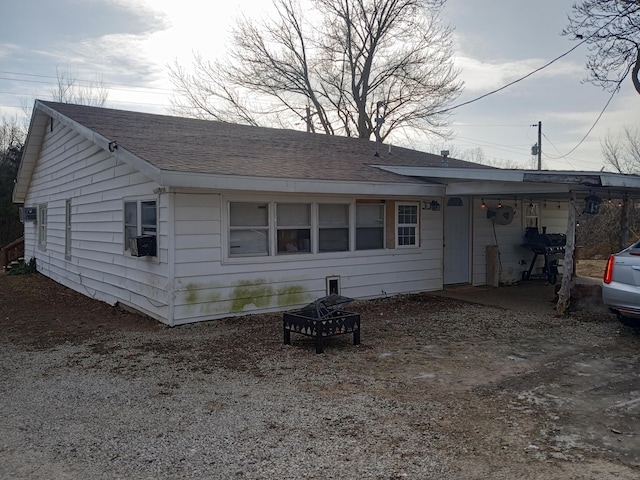
M 304 125 L 384 140 L 400 129 L 446 136 L 441 113 L 460 93 L 445 0 L 273 0 L 274 19 L 243 19 L 229 55 L 170 66 L 174 111 L 201 118 Z

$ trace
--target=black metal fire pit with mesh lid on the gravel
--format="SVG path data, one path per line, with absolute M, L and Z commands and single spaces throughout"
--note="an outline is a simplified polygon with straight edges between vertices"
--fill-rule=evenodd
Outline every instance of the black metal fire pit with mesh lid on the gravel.
M 347 312 L 342 306 L 353 302 L 352 298 L 329 295 L 306 307 L 283 316 L 284 343 L 291 344 L 291 332 L 313 337 L 316 353 L 324 352 L 324 339 L 335 335 L 353 333 L 353 344 L 360 344 L 360 314 Z

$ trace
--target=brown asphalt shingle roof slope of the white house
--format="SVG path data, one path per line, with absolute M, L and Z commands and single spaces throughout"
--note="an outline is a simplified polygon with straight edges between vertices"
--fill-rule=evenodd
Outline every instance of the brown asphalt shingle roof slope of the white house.
M 209 120 L 42 102 L 170 172 L 339 180 L 416 182 L 372 165 L 440 167 L 442 157 L 356 138 Z M 482 167 L 448 159 L 449 167 Z

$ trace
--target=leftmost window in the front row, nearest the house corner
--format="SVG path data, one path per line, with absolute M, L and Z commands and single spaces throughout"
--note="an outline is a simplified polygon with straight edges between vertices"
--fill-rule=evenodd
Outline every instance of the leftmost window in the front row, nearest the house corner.
M 229 256 L 269 255 L 269 205 L 229 204 Z

